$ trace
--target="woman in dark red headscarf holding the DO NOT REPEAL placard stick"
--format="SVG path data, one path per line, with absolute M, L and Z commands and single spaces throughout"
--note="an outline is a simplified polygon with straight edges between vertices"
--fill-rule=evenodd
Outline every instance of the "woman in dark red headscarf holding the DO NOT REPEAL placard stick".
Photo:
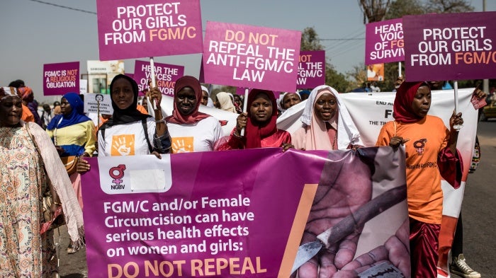
M 291 134 L 277 129 L 276 120 L 277 103 L 274 93 L 252 89 L 248 94 L 247 112 L 237 117 L 235 129 L 218 150 L 283 147 L 283 151 L 286 151 L 292 148 Z M 243 137 L 242 129 L 245 129 Z

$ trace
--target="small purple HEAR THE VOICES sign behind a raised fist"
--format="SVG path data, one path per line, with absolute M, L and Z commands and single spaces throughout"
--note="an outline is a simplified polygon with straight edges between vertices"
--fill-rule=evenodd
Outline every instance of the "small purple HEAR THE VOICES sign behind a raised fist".
M 184 66 L 162 63 L 154 63 L 154 66 L 157 87 L 159 87 L 162 94 L 174 96 L 174 85 L 177 79 L 184 76 Z M 150 80 L 151 72 L 152 67 L 150 66 L 150 62 L 135 61 L 134 79 L 140 91 L 150 88 L 148 81 Z

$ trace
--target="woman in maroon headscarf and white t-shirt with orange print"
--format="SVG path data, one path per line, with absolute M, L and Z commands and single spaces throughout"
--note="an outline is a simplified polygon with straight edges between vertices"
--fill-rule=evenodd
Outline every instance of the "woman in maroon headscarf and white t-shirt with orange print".
M 220 123 L 215 117 L 198 111 L 201 103 L 201 84 L 193 76 L 183 76 L 174 86 L 174 110 L 167 117 L 171 134 L 171 153 L 213 151 L 222 137 Z

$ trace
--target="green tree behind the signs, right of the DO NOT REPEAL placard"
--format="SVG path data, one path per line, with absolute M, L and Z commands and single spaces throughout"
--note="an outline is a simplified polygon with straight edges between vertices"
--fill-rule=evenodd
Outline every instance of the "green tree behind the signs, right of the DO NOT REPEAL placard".
M 302 31 L 300 50 L 324 50 L 320 37 L 314 28 L 308 27 Z M 339 92 L 346 92 L 349 87 L 349 81 L 346 80 L 346 76 L 337 72 L 328 58 L 326 58 L 325 62 L 325 83 Z

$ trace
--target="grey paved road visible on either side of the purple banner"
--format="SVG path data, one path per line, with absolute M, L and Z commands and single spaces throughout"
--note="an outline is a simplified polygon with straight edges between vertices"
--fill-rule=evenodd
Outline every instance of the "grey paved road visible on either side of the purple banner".
M 483 277 L 496 277 L 496 121 L 479 122 L 481 162 L 470 174 L 462 204 L 463 253 L 468 264 Z M 91 228 L 91 227 L 86 227 Z M 60 275 L 62 278 L 86 278 L 86 250 L 67 255 L 67 227 L 62 226 Z M 56 238 L 57 238 L 57 232 Z M 456 275 L 453 275 L 456 277 Z

